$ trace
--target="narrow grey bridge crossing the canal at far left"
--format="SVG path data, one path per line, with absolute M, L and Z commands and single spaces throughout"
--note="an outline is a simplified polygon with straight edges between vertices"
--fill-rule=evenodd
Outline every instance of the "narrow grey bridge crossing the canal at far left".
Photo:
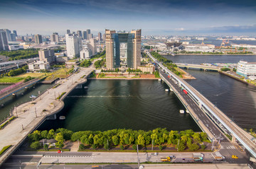
M 0 91 L 0 100 L 8 97 L 9 95 L 12 95 L 13 93 L 16 93 L 18 91 L 21 91 L 21 89 L 26 88 L 28 86 L 33 85 L 34 83 L 37 83 L 38 81 L 41 81 L 39 78 L 34 78 L 31 81 L 27 81 L 25 83 L 20 83 L 17 86 L 14 86 L 14 88 L 10 88 L 9 90 L 1 90 Z

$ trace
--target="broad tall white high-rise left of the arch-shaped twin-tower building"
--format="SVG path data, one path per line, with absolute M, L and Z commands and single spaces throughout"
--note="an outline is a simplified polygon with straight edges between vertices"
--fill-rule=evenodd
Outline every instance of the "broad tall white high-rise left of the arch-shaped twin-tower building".
M 67 54 L 69 59 L 78 57 L 82 50 L 82 39 L 74 34 L 65 35 Z

